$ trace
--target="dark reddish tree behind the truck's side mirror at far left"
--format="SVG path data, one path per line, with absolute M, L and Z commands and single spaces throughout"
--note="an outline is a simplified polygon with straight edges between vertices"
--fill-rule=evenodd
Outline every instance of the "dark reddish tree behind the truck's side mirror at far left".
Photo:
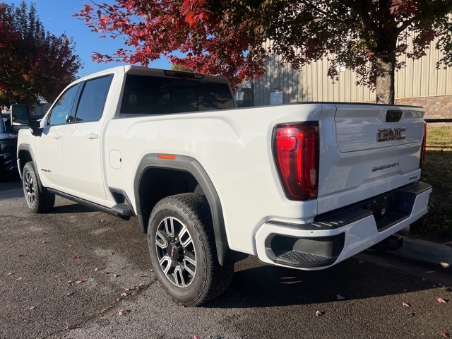
M 82 66 L 73 40 L 45 31 L 25 1 L 0 3 L 0 23 L 0 102 L 52 102 Z

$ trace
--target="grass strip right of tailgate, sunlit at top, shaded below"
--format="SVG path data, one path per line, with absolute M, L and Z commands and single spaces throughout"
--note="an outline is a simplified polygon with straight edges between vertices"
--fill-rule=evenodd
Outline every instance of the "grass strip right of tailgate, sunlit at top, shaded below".
M 433 186 L 429 213 L 410 227 L 410 233 L 452 240 L 452 126 L 427 125 L 427 153 L 422 182 Z

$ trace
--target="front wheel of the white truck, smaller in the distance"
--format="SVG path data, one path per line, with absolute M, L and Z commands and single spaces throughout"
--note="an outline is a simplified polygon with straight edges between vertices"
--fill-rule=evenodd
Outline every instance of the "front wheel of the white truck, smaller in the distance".
M 47 189 L 44 193 L 40 191 L 35 167 L 31 161 L 27 162 L 23 167 L 22 186 L 28 208 L 33 213 L 45 213 L 54 207 L 55 195 L 47 191 Z

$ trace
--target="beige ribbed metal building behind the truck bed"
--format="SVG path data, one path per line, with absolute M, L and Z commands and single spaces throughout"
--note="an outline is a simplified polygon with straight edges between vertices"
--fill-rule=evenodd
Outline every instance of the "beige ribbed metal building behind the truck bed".
M 441 54 L 431 47 L 427 55 L 412 61 L 403 57 L 406 67 L 396 72 L 396 104 L 423 106 L 426 117 L 452 118 L 452 69 L 436 69 Z M 289 65 L 278 66 L 278 56 L 266 63 L 266 74 L 254 80 L 254 104 L 334 101 L 375 102 L 375 93 L 356 85 L 350 70 L 340 70 L 333 83 L 327 76 L 328 60 L 323 59 L 295 71 Z

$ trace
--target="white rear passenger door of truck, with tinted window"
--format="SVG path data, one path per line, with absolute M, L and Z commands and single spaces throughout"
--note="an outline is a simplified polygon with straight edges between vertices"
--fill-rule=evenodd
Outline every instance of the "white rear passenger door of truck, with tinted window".
M 74 114 L 66 124 L 63 162 L 67 193 L 81 198 L 105 200 L 102 175 L 102 113 L 112 75 L 81 84 Z

